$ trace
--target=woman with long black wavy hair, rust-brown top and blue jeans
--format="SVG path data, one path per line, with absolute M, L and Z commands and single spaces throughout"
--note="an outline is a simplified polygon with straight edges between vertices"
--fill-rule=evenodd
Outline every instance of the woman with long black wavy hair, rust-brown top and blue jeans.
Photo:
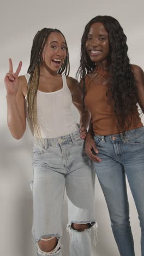
M 111 16 L 96 16 L 81 40 L 80 86 L 91 112 L 86 153 L 94 162 L 122 256 L 134 256 L 125 174 L 141 226 L 144 256 L 144 128 L 137 110 L 144 112 L 144 73 L 130 65 L 127 37 Z

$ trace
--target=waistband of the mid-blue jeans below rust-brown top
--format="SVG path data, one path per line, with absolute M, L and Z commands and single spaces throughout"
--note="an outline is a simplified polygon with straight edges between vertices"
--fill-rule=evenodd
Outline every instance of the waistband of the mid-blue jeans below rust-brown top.
M 140 128 L 126 131 L 125 136 L 123 136 L 122 133 L 118 133 L 118 134 L 112 134 L 112 135 L 106 135 L 106 136 L 94 135 L 94 137 L 100 138 L 102 141 L 112 141 L 113 139 L 115 139 L 115 141 L 127 141 L 130 138 L 139 136 L 143 132 L 144 132 L 144 127 L 141 126 Z

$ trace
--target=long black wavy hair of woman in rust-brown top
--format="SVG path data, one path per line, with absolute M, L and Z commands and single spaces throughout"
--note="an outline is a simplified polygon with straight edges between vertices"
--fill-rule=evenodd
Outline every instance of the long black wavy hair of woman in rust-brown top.
M 124 131 L 130 126 L 133 115 L 136 115 L 136 103 L 138 102 L 137 86 L 134 73 L 127 55 L 127 37 L 119 22 L 111 16 L 96 16 L 85 27 L 81 39 L 81 59 L 77 75 L 82 79 L 83 103 L 85 98 L 85 75 L 91 73 L 97 63 L 92 62 L 86 51 L 86 41 L 89 29 L 95 22 L 101 22 L 109 33 L 110 52 L 108 58 L 110 71 L 110 85 L 107 97 L 114 102 L 114 110 L 117 117 L 118 131 Z

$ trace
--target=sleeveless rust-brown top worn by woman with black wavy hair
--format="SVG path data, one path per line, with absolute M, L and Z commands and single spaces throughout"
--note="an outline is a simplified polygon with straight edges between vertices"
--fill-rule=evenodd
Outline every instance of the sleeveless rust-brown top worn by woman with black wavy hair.
M 97 73 L 109 78 L 109 72 L 97 68 Z M 106 96 L 107 84 L 95 84 L 88 75 L 85 77 L 86 96 L 85 104 L 92 115 L 93 131 L 95 135 L 113 135 L 121 131 L 117 128 L 117 118 L 114 112 L 113 101 Z M 109 100 L 109 102 L 108 102 Z M 139 112 L 136 110 L 130 127 L 127 130 L 140 128 L 142 126 Z

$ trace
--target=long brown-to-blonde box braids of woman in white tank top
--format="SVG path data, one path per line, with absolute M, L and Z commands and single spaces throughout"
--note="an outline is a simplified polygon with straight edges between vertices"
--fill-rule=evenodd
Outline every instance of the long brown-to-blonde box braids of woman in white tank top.
M 41 141 L 41 133 L 38 124 L 37 118 L 37 91 L 39 86 L 39 76 L 40 76 L 40 64 L 42 60 L 42 53 L 44 50 L 44 46 L 47 42 L 47 38 L 49 34 L 52 32 L 61 33 L 61 31 L 53 28 L 43 28 L 43 30 L 38 31 L 35 35 L 33 40 L 33 46 L 31 50 L 31 61 L 28 68 L 28 73 L 31 74 L 28 83 L 28 92 L 27 92 L 27 119 L 29 126 L 31 127 L 32 133 L 37 141 Z M 62 34 L 64 37 L 64 35 Z M 65 37 L 64 37 L 65 39 Z M 65 40 L 66 46 L 67 42 Z M 68 48 L 67 50 L 67 57 L 64 60 L 64 63 L 60 70 L 58 71 L 59 74 L 62 74 L 64 71 L 65 75 L 69 74 L 69 53 Z

